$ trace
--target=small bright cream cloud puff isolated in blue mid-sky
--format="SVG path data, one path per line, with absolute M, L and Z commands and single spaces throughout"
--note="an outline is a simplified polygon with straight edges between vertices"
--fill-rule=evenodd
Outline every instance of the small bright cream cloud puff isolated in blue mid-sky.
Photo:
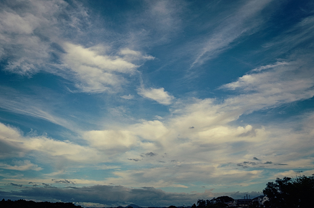
M 156 101 L 159 104 L 169 105 L 172 104 L 172 100 L 175 98 L 169 95 L 168 92 L 164 91 L 164 88 L 139 88 L 137 93 L 144 97 Z

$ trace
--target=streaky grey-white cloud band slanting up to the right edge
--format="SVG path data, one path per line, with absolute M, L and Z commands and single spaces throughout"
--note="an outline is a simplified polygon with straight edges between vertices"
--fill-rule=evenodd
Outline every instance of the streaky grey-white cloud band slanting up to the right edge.
M 228 108 L 237 106 L 248 113 L 263 107 L 312 98 L 314 72 L 311 57 L 305 55 L 294 62 L 275 64 L 267 71 L 247 74 L 223 85 L 220 89 L 242 93 L 226 99 L 224 105 Z

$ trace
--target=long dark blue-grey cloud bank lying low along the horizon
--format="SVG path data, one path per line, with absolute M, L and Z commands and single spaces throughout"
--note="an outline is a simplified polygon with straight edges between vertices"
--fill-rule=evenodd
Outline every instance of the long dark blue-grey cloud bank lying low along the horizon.
M 168 207 L 190 206 L 198 199 L 211 199 L 213 197 L 229 195 L 233 198 L 242 198 L 245 194 L 251 197 L 259 196 L 261 192 L 251 193 L 171 193 L 154 187 L 128 188 L 122 185 L 94 185 L 89 187 L 26 187 L 20 191 L 0 191 L 0 198 L 48 202 L 73 202 L 76 204 L 99 204 L 104 207 L 126 206 L 136 204 L 141 207 Z

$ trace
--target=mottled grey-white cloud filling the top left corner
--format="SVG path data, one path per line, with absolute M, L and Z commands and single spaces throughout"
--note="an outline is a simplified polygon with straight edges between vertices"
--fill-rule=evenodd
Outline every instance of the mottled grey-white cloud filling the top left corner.
M 1 3 L 2 4 L 2 3 Z M 60 36 L 56 16 L 67 3 L 63 0 L 5 2 L 0 11 L 0 58 L 10 56 L 5 69 L 21 75 L 49 71 L 51 44 Z M 19 8 L 19 9 L 17 9 Z

